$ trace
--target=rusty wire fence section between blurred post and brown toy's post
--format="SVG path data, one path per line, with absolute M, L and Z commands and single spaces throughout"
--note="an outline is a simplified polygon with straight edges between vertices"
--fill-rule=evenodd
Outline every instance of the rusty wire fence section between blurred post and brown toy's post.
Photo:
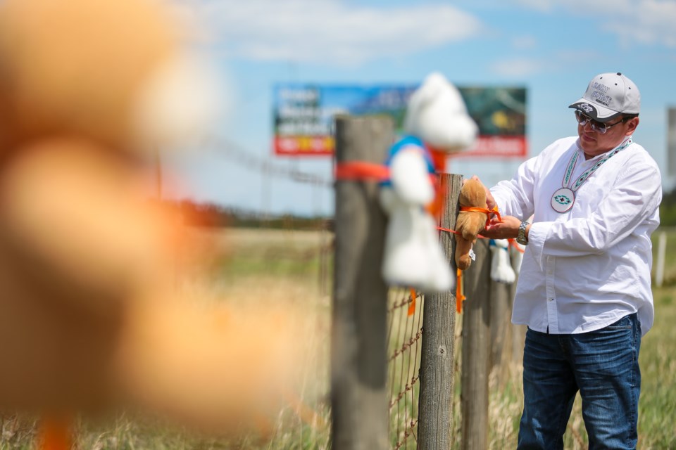
M 418 393 L 423 342 L 423 295 L 392 288 L 388 295 L 387 387 L 389 435 L 393 449 L 418 444 Z

